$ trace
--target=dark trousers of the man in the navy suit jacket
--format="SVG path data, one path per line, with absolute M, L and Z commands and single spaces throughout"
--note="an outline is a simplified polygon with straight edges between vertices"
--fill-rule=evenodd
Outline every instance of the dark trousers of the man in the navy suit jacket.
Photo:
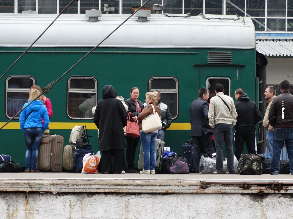
M 195 166 L 197 167 L 195 173 L 198 173 L 201 148 L 203 147 L 205 149 L 205 153 L 209 157 L 212 157 L 212 154 L 215 152 L 214 145 L 212 143 L 212 133 L 209 132 L 205 135 L 202 132 L 202 136 L 192 136 L 192 141 L 195 150 Z

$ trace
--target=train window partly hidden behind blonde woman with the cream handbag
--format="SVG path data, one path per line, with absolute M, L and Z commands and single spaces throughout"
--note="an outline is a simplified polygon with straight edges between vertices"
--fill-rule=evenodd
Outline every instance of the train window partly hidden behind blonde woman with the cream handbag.
M 148 84 L 149 92 L 160 91 L 160 101 L 165 103 L 172 118 L 178 117 L 178 79 L 175 77 L 151 77 Z

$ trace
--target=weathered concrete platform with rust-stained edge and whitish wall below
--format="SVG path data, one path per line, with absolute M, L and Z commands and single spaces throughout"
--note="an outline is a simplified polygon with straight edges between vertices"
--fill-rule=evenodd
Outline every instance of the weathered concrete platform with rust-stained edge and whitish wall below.
M 1 173 L 0 218 L 293 218 L 292 175 Z

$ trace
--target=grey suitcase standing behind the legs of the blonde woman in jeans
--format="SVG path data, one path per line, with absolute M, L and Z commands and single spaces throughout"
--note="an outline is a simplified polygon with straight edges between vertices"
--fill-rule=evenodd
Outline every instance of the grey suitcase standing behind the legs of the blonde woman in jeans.
M 156 173 L 161 171 L 161 168 L 162 168 L 164 146 L 165 146 L 165 142 L 163 142 L 160 139 L 156 139 Z M 137 169 L 142 170 L 143 168 L 144 168 L 144 152 L 142 150 L 142 145 L 140 145 Z

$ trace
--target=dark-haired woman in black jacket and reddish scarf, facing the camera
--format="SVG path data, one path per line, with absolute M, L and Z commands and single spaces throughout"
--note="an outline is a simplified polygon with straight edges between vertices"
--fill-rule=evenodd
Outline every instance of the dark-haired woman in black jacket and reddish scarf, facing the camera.
M 131 112 L 130 118 L 133 121 L 137 121 L 137 117 L 144 109 L 144 105 L 141 101 L 138 100 L 139 89 L 137 87 L 131 88 L 130 95 L 131 95 L 131 98 L 125 100 L 125 103 L 128 106 L 127 114 Z M 139 142 L 139 137 L 131 138 L 131 137 L 125 136 L 125 138 L 127 143 L 126 162 L 128 166 L 128 173 L 137 173 L 137 171 L 134 169 L 134 157 L 135 157 L 136 148 Z

